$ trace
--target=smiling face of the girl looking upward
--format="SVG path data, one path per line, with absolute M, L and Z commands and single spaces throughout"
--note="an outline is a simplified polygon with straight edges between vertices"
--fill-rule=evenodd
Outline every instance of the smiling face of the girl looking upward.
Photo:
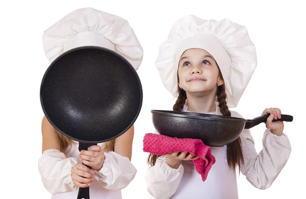
M 206 50 L 191 48 L 180 59 L 177 70 L 179 87 L 187 93 L 215 92 L 224 82 L 212 55 Z

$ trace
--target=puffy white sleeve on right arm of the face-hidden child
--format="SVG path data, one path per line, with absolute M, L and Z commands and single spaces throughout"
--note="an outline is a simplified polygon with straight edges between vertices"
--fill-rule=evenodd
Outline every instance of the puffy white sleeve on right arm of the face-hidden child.
M 135 178 L 137 169 L 129 158 L 115 152 L 104 153 L 103 167 L 94 175 L 99 184 L 110 190 L 121 190 Z

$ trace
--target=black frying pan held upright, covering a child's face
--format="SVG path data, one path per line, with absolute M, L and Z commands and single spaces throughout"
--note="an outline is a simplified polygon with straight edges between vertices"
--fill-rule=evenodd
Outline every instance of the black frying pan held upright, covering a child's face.
M 40 88 L 44 115 L 60 133 L 79 141 L 80 151 L 126 132 L 139 115 L 142 98 L 133 66 L 116 52 L 95 46 L 59 56 Z M 89 199 L 89 187 L 79 189 L 81 198 Z

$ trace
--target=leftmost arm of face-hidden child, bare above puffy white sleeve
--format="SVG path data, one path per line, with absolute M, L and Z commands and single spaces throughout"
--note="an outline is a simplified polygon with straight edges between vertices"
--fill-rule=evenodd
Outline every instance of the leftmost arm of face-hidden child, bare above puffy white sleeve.
M 42 120 L 42 152 L 38 170 L 47 191 L 56 194 L 77 189 L 71 179 L 71 169 L 77 164 L 77 158 L 66 158 L 60 151 L 59 138 L 45 117 Z

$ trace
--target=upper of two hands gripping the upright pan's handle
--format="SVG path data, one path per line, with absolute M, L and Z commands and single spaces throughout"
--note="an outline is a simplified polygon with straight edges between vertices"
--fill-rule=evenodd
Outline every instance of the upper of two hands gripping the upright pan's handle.
M 88 148 L 88 151 L 82 150 L 80 158 L 83 164 L 94 170 L 100 170 L 104 163 L 104 150 L 98 145 L 93 145 Z

